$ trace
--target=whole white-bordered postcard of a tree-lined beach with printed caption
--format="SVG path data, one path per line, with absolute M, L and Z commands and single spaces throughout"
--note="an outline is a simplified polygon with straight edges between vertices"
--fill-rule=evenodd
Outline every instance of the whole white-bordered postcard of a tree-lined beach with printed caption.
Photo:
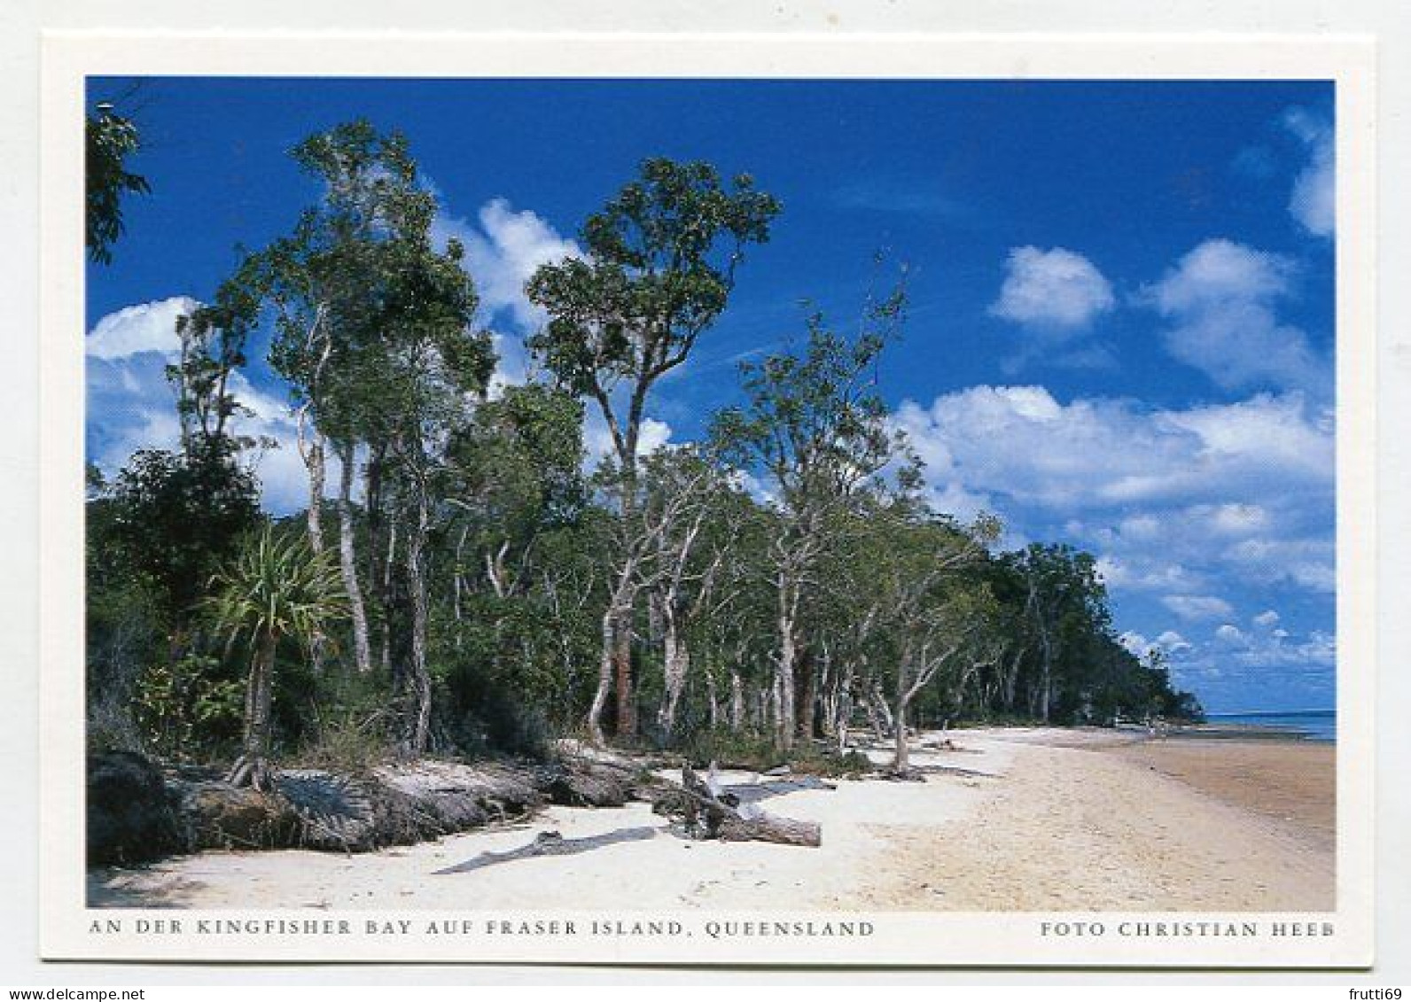
M 1371 964 L 1366 40 L 44 56 L 47 958 Z

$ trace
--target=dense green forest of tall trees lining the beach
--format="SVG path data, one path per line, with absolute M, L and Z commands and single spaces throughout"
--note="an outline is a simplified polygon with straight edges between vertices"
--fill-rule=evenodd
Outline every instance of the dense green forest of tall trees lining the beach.
M 124 131 L 127 130 L 127 131 Z M 135 133 L 89 120 L 89 251 L 121 267 Z M 525 294 L 497 375 L 463 247 L 406 143 L 354 121 L 293 150 L 317 199 L 181 318 L 181 439 L 89 469 L 96 748 L 234 762 L 533 752 L 557 735 L 710 756 L 842 755 L 967 721 L 1198 717 L 1116 638 L 1088 553 L 1000 549 L 930 504 L 879 358 L 906 275 L 741 366 L 700 440 L 643 446 L 663 378 L 787 213 L 749 176 L 648 159 Z M 159 188 L 159 185 L 158 185 Z M 159 198 L 159 191 L 151 192 Z M 306 509 L 261 509 L 233 375 L 285 381 Z M 586 422 L 611 439 L 590 460 Z

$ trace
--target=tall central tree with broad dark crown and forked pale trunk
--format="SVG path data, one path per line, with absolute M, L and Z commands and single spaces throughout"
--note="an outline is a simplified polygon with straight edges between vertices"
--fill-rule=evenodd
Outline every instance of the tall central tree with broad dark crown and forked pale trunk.
M 584 254 L 546 264 L 528 282 L 529 299 L 549 315 L 531 349 L 563 387 L 597 405 L 626 525 L 650 392 L 720 318 L 745 246 L 768 240 L 777 212 L 748 175 L 725 185 L 710 164 L 652 158 L 584 223 Z M 634 563 L 624 556 L 615 562 L 622 573 Z M 617 594 L 629 591 L 625 581 L 614 586 Z M 636 730 L 632 611 L 621 607 L 612 624 L 621 735 Z

